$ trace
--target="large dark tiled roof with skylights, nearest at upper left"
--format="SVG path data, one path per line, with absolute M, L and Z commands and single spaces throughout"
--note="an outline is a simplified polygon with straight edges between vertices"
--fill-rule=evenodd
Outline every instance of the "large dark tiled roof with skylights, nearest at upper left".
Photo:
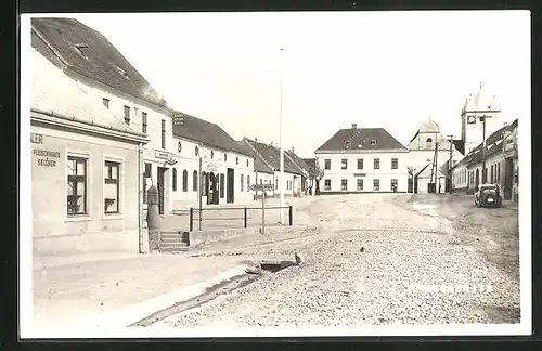
M 166 101 L 96 30 L 74 18 L 33 18 L 31 44 L 66 74 L 77 73 L 160 107 Z

